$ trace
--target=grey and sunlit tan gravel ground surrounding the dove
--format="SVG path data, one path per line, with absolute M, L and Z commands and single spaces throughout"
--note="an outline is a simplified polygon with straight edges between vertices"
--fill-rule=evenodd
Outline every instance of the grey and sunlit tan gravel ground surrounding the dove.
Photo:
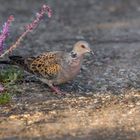
M 15 16 L 11 38 L 23 32 L 44 0 L 0 0 L 0 21 Z M 68 51 L 86 40 L 95 52 L 80 74 L 61 85 L 66 97 L 46 85 L 23 82 L 10 104 L 0 106 L 1 139 L 140 139 L 140 1 L 51 0 L 51 20 L 14 51 L 37 55 Z M 1 24 L 1 22 L 0 22 Z M 5 58 L 6 59 L 6 58 Z M 29 74 L 25 73 L 28 80 Z

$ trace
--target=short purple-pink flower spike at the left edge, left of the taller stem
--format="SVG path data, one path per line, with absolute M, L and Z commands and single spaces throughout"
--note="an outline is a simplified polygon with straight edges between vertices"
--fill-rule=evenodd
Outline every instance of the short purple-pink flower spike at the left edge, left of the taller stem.
M 14 20 L 14 17 L 11 15 L 7 22 L 4 23 L 3 28 L 0 33 L 0 53 L 3 51 L 4 48 L 4 42 L 6 38 L 9 36 L 9 27 L 11 22 Z

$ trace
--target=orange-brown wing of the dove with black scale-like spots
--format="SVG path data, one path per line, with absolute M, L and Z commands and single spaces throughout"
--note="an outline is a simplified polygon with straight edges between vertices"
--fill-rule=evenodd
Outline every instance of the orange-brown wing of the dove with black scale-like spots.
M 27 58 L 26 65 L 32 73 L 53 79 L 61 71 L 62 57 L 63 52 L 47 52 L 38 57 Z

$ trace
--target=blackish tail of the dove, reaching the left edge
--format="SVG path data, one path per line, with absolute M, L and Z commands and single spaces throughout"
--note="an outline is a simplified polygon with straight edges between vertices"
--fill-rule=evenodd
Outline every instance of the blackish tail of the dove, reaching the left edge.
M 8 64 L 8 65 L 24 65 L 24 58 L 22 56 L 9 56 L 10 60 L 0 61 L 0 64 Z

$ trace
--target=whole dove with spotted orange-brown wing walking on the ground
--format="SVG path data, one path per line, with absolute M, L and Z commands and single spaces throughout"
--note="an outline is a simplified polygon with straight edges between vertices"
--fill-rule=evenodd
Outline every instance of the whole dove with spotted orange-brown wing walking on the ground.
M 36 57 L 9 56 L 8 61 L 0 64 L 10 64 L 22 67 L 25 71 L 37 76 L 40 81 L 47 84 L 55 93 L 61 94 L 57 85 L 66 83 L 79 73 L 84 55 L 94 54 L 86 41 L 78 41 L 70 52 L 50 51 Z

